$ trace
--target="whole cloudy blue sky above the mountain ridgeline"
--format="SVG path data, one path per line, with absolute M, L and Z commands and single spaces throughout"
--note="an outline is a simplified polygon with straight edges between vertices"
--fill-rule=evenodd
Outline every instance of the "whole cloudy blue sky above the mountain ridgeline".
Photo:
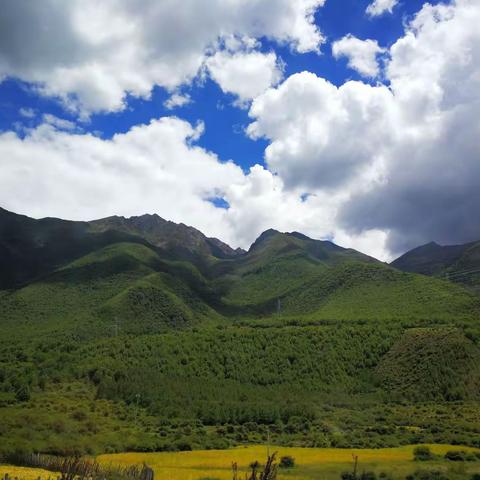
M 4 0 L 0 206 L 480 239 L 478 0 Z

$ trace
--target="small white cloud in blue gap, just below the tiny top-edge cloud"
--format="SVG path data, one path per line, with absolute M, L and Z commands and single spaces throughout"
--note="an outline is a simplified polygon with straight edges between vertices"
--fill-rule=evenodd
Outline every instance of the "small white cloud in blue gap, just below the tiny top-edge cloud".
M 380 73 L 377 56 L 385 52 L 376 40 L 360 40 L 347 35 L 332 45 L 335 58 L 347 57 L 348 66 L 364 77 L 374 78 Z

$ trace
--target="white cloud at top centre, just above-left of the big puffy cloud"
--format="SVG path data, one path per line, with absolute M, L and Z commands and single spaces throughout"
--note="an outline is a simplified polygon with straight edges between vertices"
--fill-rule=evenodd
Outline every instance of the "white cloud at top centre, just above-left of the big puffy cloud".
M 236 95 L 240 104 L 277 85 L 283 75 L 274 52 L 220 51 L 207 60 L 206 67 L 222 91 Z

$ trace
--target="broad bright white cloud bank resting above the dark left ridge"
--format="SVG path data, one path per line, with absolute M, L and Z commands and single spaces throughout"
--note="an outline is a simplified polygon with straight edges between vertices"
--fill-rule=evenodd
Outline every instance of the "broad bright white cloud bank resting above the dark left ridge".
M 103 140 L 44 123 L 23 139 L 0 135 L 0 203 L 36 217 L 73 219 L 155 211 L 212 231 L 203 199 L 244 181 L 231 162 L 193 145 L 203 131 L 173 117 Z

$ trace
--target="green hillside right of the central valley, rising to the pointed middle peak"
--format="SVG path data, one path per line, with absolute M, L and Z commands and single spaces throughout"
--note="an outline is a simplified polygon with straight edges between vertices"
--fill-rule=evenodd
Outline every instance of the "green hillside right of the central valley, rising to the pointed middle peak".
M 221 279 L 225 304 L 317 319 L 472 318 L 479 301 L 449 282 L 400 272 L 300 234 L 268 231 Z

